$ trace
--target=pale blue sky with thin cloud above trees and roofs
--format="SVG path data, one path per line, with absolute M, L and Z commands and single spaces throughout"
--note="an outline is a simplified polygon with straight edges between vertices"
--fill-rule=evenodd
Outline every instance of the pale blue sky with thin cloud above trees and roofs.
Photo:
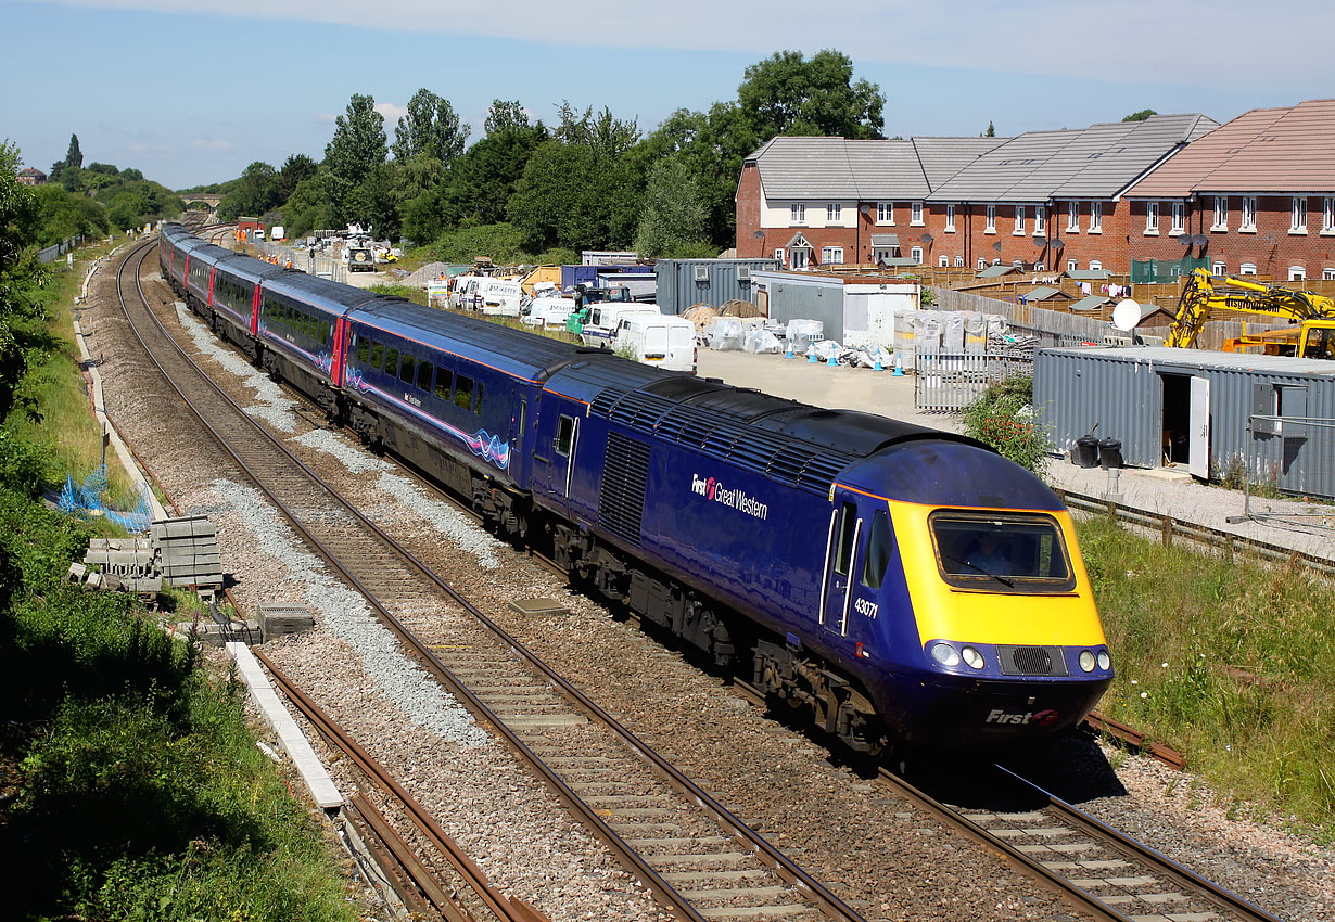
M 1227 121 L 1328 96 L 1330 0 L 0 0 L 0 139 L 49 171 L 188 188 L 323 159 L 352 93 L 394 127 L 418 88 L 482 135 L 493 99 L 563 100 L 649 132 L 733 100 L 776 51 L 833 48 L 885 93 L 886 136 L 1083 128 L 1152 108 Z M 1252 41 L 1248 36 L 1256 36 Z M 1286 37 L 1287 36 L 1287 37 Z M 1303 41 L 1302 36 L 1320 36 Z M 1295 40 L 1296 37 L 1296 40 Z

